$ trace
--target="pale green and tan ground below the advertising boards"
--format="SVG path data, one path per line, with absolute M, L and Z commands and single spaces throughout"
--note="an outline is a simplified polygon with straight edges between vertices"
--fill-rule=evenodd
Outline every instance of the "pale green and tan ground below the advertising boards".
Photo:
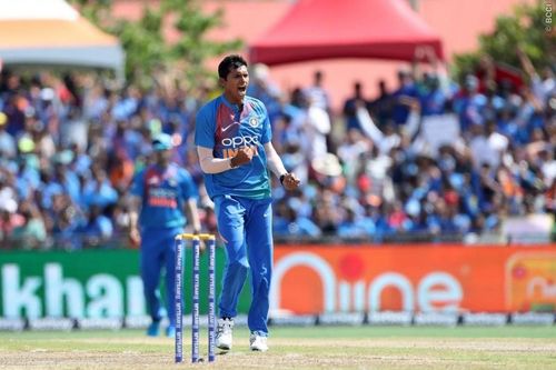
M 138 330 L 0 332 L 0 369 L 556 369 L 556 327 L 272 327 L 265 353 L 237 328 L 234 350 L 210 364 L 189 363 L 183 334 L 175 364 L 172 339 Z

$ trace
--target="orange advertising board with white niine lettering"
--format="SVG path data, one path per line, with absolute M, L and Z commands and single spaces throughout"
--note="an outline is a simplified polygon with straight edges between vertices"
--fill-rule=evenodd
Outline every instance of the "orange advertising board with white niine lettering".
M 556 311 L 556 246 L 277 248 L 271 312 Z

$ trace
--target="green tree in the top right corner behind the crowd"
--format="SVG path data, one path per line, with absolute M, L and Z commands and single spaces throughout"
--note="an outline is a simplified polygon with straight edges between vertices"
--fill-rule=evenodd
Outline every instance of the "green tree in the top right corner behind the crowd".
M 522 68 L 516 50 L 520 48 L 539 70 L 554 63 L 555 33 L 546 29 L 545 1 L 536 4 L 519 4 L 514 13 L 500 16 L 492 33 L 479 36 L 479 48 L 475 52 L 455 57 L 454 73 L 463 78 L 474 71 L 480 58 L 490 56 L 498 63 Z

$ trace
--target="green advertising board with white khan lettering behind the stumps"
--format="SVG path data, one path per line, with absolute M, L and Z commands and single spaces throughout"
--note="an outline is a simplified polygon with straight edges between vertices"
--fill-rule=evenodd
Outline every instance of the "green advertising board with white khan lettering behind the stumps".
M 217 291 L 224 268 L 217 249 Z M 186 250 L 185 312 L 191 308 L 191 250 Z M 201 312 L 208 303 L 207 253 L 200 263 Z M 163 289 L 161 290 L 163 294 Z M 249 291 L 239 309 L 249 309 Z M 0 318 L 123 318 L 147 313 L 137 250 L 2 251 L 0 252 Z

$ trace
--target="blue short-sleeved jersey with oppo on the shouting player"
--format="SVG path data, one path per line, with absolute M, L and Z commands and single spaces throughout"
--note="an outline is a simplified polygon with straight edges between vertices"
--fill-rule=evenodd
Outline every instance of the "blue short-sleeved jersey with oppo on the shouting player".
M 261 101 L 246 97 L 241 112 L 222 96 L 197 113 L 195 144 L 212 149 L 215 158 L 232 158 L 239 148 L 250 147 L 251 162 L 220 173 L 205 173 L 211 199 L 221 194 L 250 199 L 270 198 L 265 144 L 271 140 L 270 121 Z

